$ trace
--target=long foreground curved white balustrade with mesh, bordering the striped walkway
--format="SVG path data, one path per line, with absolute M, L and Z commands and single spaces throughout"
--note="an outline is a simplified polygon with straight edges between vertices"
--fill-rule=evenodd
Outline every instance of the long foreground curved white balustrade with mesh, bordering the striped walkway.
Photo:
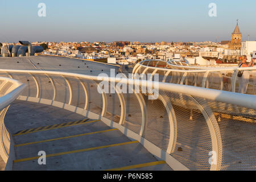
M 134 68 L 135 72 L 141 72 L 140 69 L 151 68 L 144 67 L 143 63 Z M 157 69 L 171 73 L 170 69 Z M 251 164 L 244 151 L 233 150 L 233 147 L 241 146 L 232 144 L 229 135 L 236 129 L 229 123 L 236 123 L 250 134 L 250 130 L 255 129 L 256 96 L 157 82 L 158 99 L 149 100 L 150 94 L 143 93 L 142 88 L 154 85 L 154 81 L 10 69 L 0 69 L 0 74 L 27 84 L 19 100 L 52 105 L 91 119 L 101 119 L 106 125 L 141 142 L 173 169 L 242 169 L 240 163 L 234 163 L 236 160 L 242 160 L 242 163 L 248 163 L 247 168 L 255 169 L 255 164 Z M 98 92 L 102 80 L 112 85 L 112 92 Z M 127 89 L 133 93 L 119 92 L 123 87 L 118 87 L 118 84 L 128 84 Z M 139 92 L 135 92 L 135 86 Z M 238 137 L 243 141 L 243 147 L 253 145 L 247 141 L 246 135 Z M 250 137 L 255 141 L 253 135 Z M 230 147 L 230 144 L 234 146 Z M 255 154 L 254 149 L 251 150 Z

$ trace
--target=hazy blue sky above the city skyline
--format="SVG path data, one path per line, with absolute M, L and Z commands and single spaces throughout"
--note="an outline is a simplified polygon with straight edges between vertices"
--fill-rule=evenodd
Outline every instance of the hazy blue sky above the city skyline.
M 0 15 L 0 42 L 220 41 L 230 40 L 237 19 L 242 40 L 256 40 L 255 0 L 0 0 Z

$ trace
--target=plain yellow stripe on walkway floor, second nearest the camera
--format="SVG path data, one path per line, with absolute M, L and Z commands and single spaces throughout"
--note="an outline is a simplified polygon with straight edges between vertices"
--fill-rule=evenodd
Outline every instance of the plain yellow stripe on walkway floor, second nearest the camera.
M 85 151 L 90 151 L 90 150 L 97 150 L 97 149 L 100 149 L 100 148 L 122 146 L 122 145 L 125 145 L 125 144 L 132 144 L 132 143 L 138 143 L 138 141 L 109 144 L 109 145 L 106 145 L 106 146 L 84 148 L 84 149 L 80 149 L 80 150 L 73 150 L 73 151 L 67 151 L 67 152 L 59 152 L 59 153 L 56 153 L 56 154 L 46 155 L 46 158 L 53 157 L 53 156 L 59 156 L 59 155 L 65 155 L 65 154 L 73 154 L 73 153 L 77 153 L 77 152 L 85 152 Z M 17 159 L 17 160 L 14 160 L 13 162 L 14 163 L 18 163 L 18 162 L 24 162 L 24 161 L 34 160 L 34 159 L 38 159 L 38 158 L 40 158 L 40 156 L 35 156 L 35 157 L 32 157 L 32 158 Z

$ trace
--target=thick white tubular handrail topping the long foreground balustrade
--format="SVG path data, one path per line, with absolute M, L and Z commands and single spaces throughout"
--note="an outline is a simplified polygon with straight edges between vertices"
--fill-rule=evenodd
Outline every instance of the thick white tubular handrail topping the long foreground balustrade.
M 54 71 L 35 71 L 35 70 L 14 70 L 14 69 L 0 69 L 0 72 L 13 72 L 13 73 L 38 73 L 38 74 L 48 74 L 48 75 L 64 75 L 71 77 L 80 77 L 89 80 L 105 80 L 109 82 L 122 82 L 122 83 L 131 83 L 138 86 L 147 86 L 148 84 L 155 84 L 155 81 L 145 81 L 145 80 L 130 80 L 128 78 L 115 78 L 115 77 L 102 77 L 102 76 L 90 76 L 90 75 L 82 75 L 79 73 L 67 73 L 67 72 L 54 72 Z M 138 84 L 139 83 L 139 84 Z M 196 86 L 189 85 L 179 85 L 179 84 L 171 84 L 166 82 L 158 82 L 159 89 L 178 92 L 183 94 L 189 94 L 201 98 L 205 98 L 208 100 L 216 100 L 219 102 L 226 102 L 229 104 L 234 104 L 243 107 L 249 107 L 256 109 L 256 96 L 241 94 L 241 93 L 233 93 L 223 90 L 214 90 L 207 88 L 200 88 Z

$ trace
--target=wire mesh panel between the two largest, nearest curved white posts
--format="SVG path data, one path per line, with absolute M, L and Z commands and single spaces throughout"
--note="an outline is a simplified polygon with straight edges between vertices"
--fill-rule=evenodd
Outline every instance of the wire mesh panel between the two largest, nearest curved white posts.
M 176 146 L 171 155 L 192 170 L 210 169 L 212 139 L 199 105 L 179 93 L 166 93 L 174 107 L 177 121 Z

